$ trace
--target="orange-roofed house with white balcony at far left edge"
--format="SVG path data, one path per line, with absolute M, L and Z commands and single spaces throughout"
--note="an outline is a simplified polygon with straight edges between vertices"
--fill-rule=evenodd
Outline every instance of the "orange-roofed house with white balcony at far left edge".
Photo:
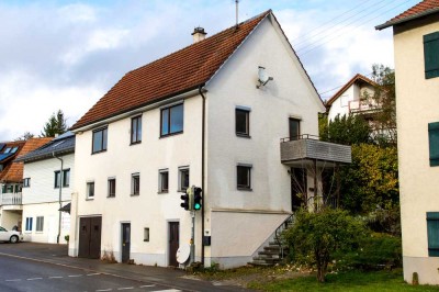
M 11 229 L 22 223 L 23 164 L 14 159 L 46 144 L 52 138 L 0 143 L 0 226 Z

